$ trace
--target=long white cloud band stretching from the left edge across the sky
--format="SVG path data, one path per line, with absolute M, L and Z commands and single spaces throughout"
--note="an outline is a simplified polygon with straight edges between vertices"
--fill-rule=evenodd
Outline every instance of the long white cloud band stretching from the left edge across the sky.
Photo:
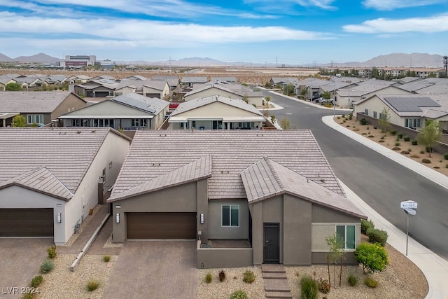
M 307 32 L 286 27 L 223 27 L 178 24 L 153 20 L 73 19 L 24 17 L 0 12 L 0 34 L 63 34 L 67 39 L 92 36 L 92 40 L 123 41 L 132 45 L 170 47 L 197 43 L 252 43 L 260 41 L 332 39 L 323 32 Z M 29 39 L 29 37 L 27 38 Z M 65 41 L 65 40 L 64 40 Z

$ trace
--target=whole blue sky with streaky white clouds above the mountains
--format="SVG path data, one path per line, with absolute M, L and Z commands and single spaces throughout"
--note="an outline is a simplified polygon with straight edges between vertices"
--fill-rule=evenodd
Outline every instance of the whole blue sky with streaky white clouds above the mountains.
M 448 55 L 447 45 L 448 0 L 0 0 L 0 53 L 9 57 L 300 66 Z

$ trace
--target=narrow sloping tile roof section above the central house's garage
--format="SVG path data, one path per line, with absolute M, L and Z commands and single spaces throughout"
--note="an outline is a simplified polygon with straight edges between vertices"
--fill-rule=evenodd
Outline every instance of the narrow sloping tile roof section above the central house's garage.
M 158 164 L 154 164 L 153 167 L 158 167 Z M 125 190 L 123 193 L 111 196 L 109 197 L 109 202 L 123 200 L 128 197 L 146 194 L 172 186 L 179 186 L 184 183 L 207 179 L 209 177 L 211 177 L 211 155 L 205 155 L 204 157 L 176 168 L 167 174 L 162 174 L 161 176 L 151 179 L 151 181 Z

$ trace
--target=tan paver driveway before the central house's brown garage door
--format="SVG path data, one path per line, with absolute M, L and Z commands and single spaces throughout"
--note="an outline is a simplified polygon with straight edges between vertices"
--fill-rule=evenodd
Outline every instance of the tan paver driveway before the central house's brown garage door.
M 195 298 L 195 241 L 126 241 L 103 298 Z

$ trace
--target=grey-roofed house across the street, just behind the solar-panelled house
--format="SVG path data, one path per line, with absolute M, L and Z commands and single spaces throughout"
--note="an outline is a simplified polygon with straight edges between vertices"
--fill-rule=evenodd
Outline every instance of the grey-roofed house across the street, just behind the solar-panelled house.
M 409 95 L 410 92 L 393 85 L 393 81 L 369 80 L 358 85 L 347 86 L 336 90 L 336 104 L 342 107 L 351 107 L 354 102 L 367 99 L 372 95 Z

